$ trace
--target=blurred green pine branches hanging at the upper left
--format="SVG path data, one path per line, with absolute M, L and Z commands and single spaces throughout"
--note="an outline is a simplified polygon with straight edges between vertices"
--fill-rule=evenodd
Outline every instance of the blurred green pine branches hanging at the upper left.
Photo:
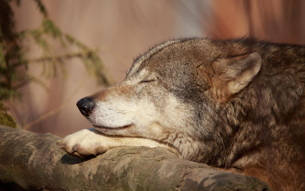
M 44 17 L 41 25 L 32 30 L 14 31 L 13 11 L 9 4 L 12 1 L 16 2 L 17 5 L 20 4 L 20 0 L 0 0 L 0 5 L 2 5 L 0 6 L 0 100 L 20 97 L 21 93 L 18 89 L 31 82 L 38 83 L 47 89 L 41 80 L 27 74 L 28 64 L 33 63 L 42 67 L 42 77 L 49 78 L 56 77 L 59 68 L 65 76 L 67 73 L 65 61 L 78 58 L 84 64 L 88 74 L 93 74 L 99 84 L 109 86 L 115 83 L 99 56 L 98 50 L 86 46 L 81 41 L 61 31 L 48 18 L 48 13 L 41 0 L 33 0 Z M 28 40 L 34 40 L 35 45 L 41 48 L 41 57 L 25 58 L 29 51 Z M 60 42 L 65 52 L 71 46 L 75 46 L 78 51 L 56 54 L 51 40 Z M 20 66 L 24 68 L 17 68 Z

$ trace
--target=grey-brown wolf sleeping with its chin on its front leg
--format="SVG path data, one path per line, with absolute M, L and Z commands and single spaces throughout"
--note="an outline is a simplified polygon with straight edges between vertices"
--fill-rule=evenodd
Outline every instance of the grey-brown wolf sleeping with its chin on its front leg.
M 60 142 L 84 157 L 120 146 L 305 190 L 305 46 L 251 38 L 175 39 L 137 57 L 126 78 L 77 102 L 93 125 Z

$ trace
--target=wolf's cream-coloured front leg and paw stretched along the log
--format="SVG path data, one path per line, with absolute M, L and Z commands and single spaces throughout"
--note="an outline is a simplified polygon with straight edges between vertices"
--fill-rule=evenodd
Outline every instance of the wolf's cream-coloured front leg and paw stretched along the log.
M 77 157 L 98 155 L 114 147 L 123 146 L 159 146 L 173 149 L 170 145 L 152 139 L 105 135 L 93 128 L 80 130 L 66 136 L 60 141 L 59 146 L 68 154 Z

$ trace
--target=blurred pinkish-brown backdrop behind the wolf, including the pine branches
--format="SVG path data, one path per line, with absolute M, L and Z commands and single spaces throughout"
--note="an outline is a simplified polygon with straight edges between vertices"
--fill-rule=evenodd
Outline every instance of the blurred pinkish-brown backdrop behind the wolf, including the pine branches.
M 2 111 L 16 128 L 38 133 L 63 137 L 90 128 L 76 102 L 122 81 L 133 58 L 149 47 L 194 36 L 304 44 L 302 10 L 301 0 L 0 0 Z M 17 35 L 5 36 L 5 24 Z M 12 46 L 20 56 L 8 57 Z M 27 79 L 7 85 L 9 71 Z

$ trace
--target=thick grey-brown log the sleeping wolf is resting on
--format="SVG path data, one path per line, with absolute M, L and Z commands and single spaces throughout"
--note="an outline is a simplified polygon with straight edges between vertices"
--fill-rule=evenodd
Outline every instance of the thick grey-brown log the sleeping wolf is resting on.
M 80 159 L 49 133 L 0 126 L 0 135 L 0 180 L 27 190 L 269 190 L 255 177 L 183 160 L 164 147 L 118 147 Z

